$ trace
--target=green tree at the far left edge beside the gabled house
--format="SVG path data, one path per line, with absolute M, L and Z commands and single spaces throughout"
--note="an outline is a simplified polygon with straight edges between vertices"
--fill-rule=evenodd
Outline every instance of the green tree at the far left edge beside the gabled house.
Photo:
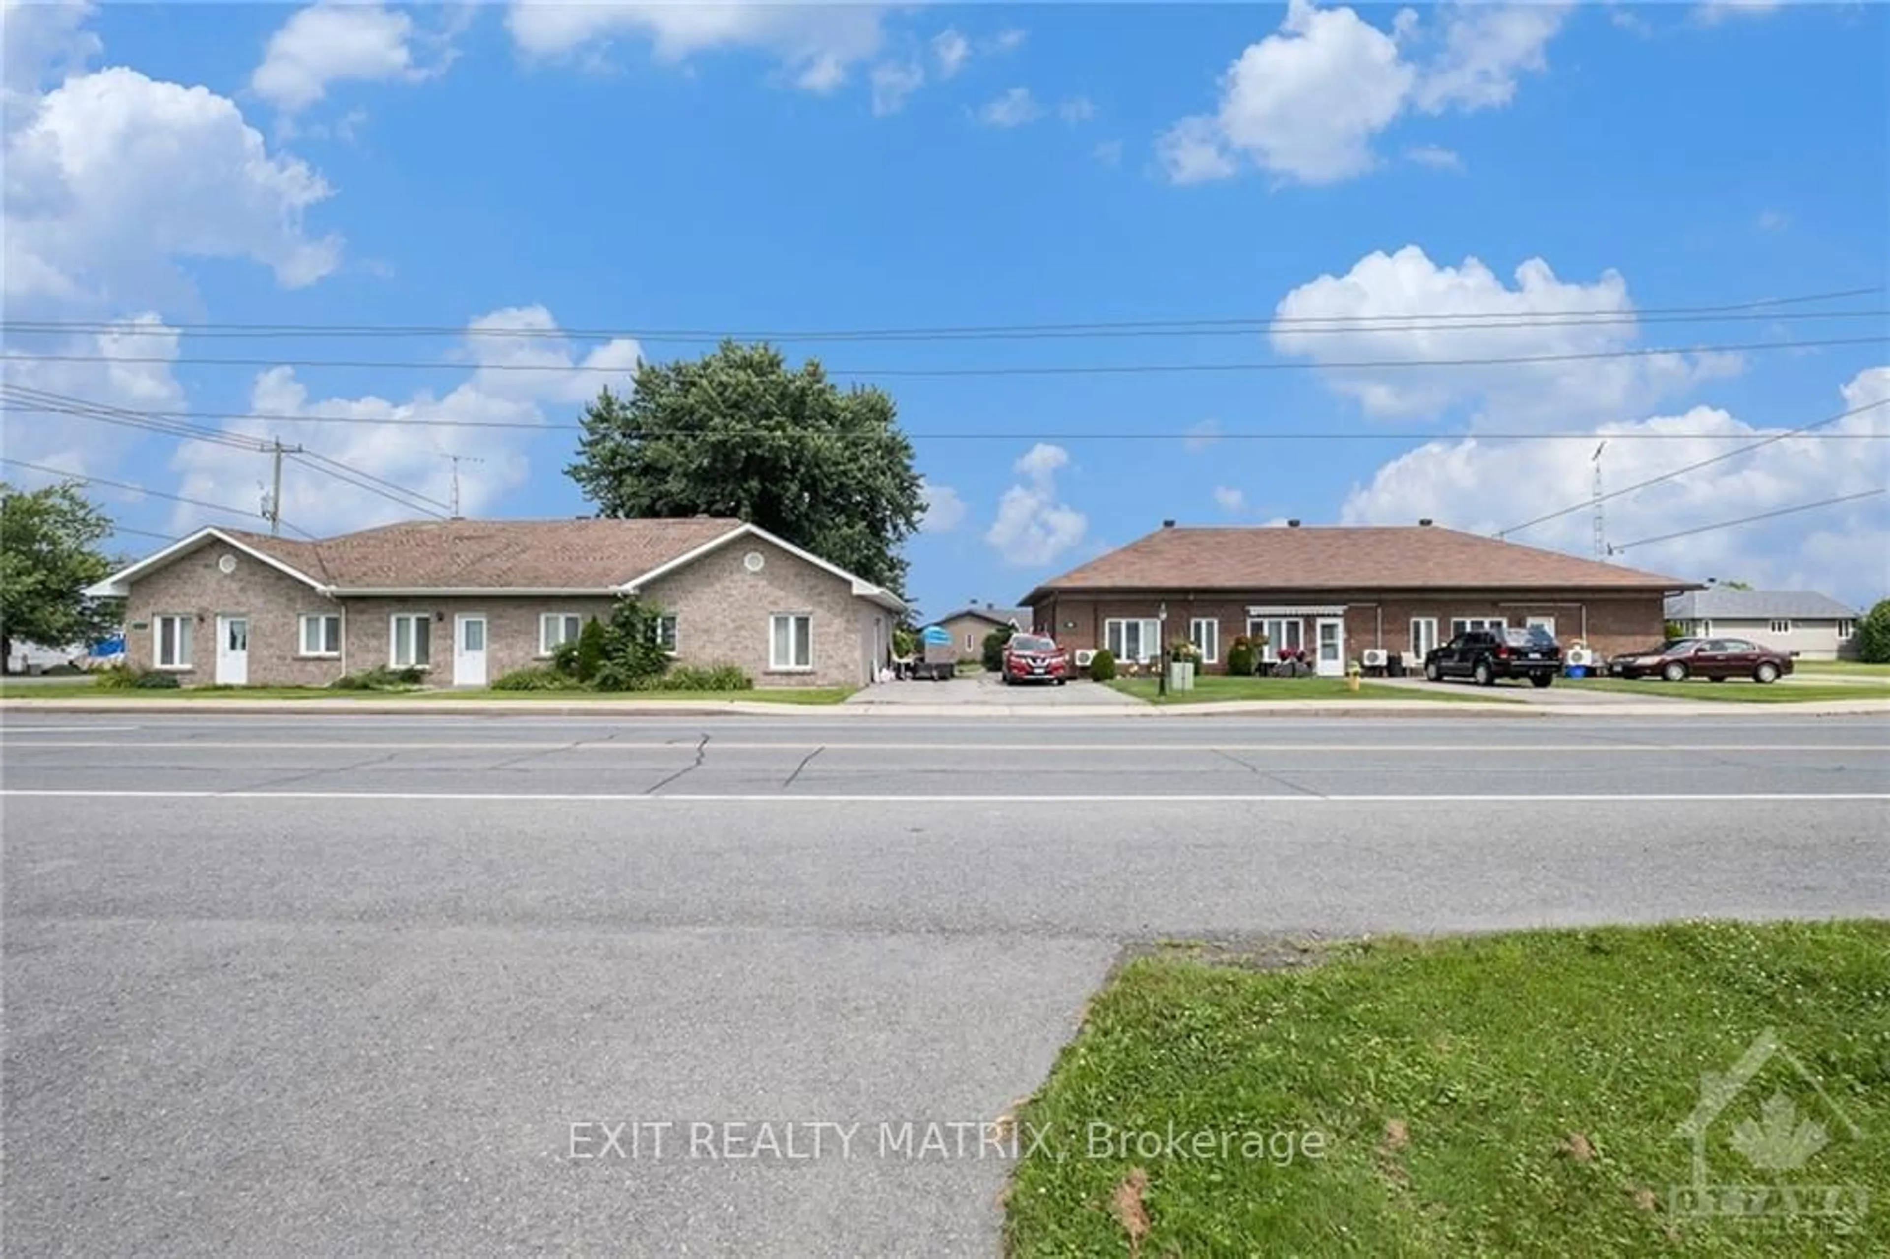
M 98 543 L 112 522 L 77 484 L 13 490 L 0 482 L 0 662 L 13 643 L 70 647 L 113 626 L 117 601 L 81 592 L 112 571 Z

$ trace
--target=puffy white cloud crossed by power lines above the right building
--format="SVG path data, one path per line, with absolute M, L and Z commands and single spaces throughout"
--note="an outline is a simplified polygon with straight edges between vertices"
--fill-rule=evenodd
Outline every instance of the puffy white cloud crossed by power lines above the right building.
M 1508 425 L 1620 418 L 1739 369 L 1735 357 L 1712 354 L 1478 365 L 1633 350 L 1641 331 L 1633 312 L 1627 282 L 1614 270 L 1588 284 L 1565 282 L 1533 257 L 1516 268 L 1512 287 L 1474 257 L 1440 267 L 1404 246 L 1287 293 L 1270 338 L 1276 352 L 1315 363 L 1433 365 L 1325 372 L 1378 418 L 1459 406 Z

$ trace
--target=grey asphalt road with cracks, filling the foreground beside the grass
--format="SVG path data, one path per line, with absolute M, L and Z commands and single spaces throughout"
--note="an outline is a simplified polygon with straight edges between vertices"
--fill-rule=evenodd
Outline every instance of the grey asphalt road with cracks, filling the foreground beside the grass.
M 990 1255 L 1125 943 L 1890 915 L 1881 718 L 8 716 L 15 1253 Z

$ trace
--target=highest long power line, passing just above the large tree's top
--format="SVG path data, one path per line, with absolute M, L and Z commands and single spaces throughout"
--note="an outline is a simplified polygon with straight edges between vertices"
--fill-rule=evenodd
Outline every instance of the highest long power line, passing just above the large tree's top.
M 1189 329 L 1234 329 L 1234 331 L 1266 331 L 1266 329 L 1321 329 L 1338 327 L 1342 331 L 1353 329 L 1376 329 L 1389 331 L 1385 325 L 1423 325 L 1436 327 L 1438 321 L 1463 321 L 1463 319 L 1692 319 L 1697 316 L 1716 318 L 1716 316 L 1750 316 L 1750 318 L 1775 318 L 1775 312 L 1782 306 L 1805 306 L 1813 302 L 1830 302 L 1852 297 L 1867 297 L 1882 293 L 1881 285 L 1854 287 L 1854 289 L 1835 289 L 1828 293 L 1801 293 L 1792 297 L 1767 297 L 1743 302 L 1720 302 L 1720 304 L 1695 304 L 1695 306 L 1646 306 L 1641 310 L 1622 310 L 1622 308 L 1588 308 L 1588 310 L 1533 310 L 1516 316 L 1478 316 L 1478 314 L 1378 314 L 1378 316 L 1232 316 L 1232 318 L 1191 318 L 1191 319 L 1106 319 L 1106 321 L 1074 321 L 1074 323 L 971 323 L 971 325 L 919 325 L 919 327 L 871 327 L 871 329 L 762 329 L 762 331 L 743 331 L 743 329 L 663 329 L 663 327 L 618 327 L 618 329 L 524 329 L 524 327 L 490 327 L 490 325 L 416 325 L 416 323 L 170 323 L 170 325 L 123 325 L 123 323 L 100 323 L 100 321 L 60 321 L 60 319 L 11 319 L 0 321 L 0 331 L 30 331 L 30 333 L 104 333 L 104 335 L 153 335 L 166 336 L 174 333 L 191 335 L 251 335 L 251 336 L 327 336 L 327 335 L 346 335 L 346 336 L 467 336 L 467 338 L 637 338 L 637 340 L 907 340 L 907 338 L 985 338 L 985 336 L 1013 336 L 1013 335 L 1041 335 L 1041 333 L 1070 333 L 1070 335 L 1096 335 L 1096 333 L 1145 333 L 1176 329 L 1187 335 Z M 1879 312 L 1822 312 L 1822 314 L 1794 314 L 1790 318 L 1862 318 Z M 1501 323 L 1497 323 L 1501 325 Z M 1446 325 L 1448 327 L 1448 325 Z M 1474 325 L 1484 327 L 1484 325 Z

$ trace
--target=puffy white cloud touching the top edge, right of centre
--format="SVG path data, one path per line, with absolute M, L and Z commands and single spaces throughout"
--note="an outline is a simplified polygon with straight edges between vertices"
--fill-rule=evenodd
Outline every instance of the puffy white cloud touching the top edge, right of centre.
M 1157 142 L 1176 183 L 1227 178 L 1249 163 L 1278 180 L 1336 183 L 1378 164 L 1374 140 L 1410 110 L 1508 104 L 1567 4 L 1448 4 L 1429 21 L 1400 9 L 1391 30 L 1349 8 L 1291 0 L 1276 34 L 1247 45 L 1219 83 L 1213 113 L 1183 117 Z

